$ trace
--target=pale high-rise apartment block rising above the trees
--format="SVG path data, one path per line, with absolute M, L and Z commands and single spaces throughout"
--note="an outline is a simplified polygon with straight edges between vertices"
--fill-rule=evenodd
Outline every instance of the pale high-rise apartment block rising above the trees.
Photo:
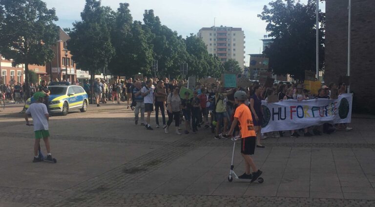
M 197 36 L 205 42 L 208 54 L 219 56 L 221 62 L 235 59 L 244 69 L 245 35 L 242 28 L 203 27 L 199 30 Z

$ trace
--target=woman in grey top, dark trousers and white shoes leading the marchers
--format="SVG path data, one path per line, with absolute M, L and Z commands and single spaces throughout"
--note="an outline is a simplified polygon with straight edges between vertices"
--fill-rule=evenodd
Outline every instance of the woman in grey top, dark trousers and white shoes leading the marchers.
M 168 113 L 168 122 L 167 127 L 164 129 L 166 133 L 169 133 L 168 129 L 173 119 L 175 120 L 176 134 L 181 135 L 178 131 L 180 126 L 180 111 L 181 111 L 181 98 L 180 98 L 180 89 L 178 86 L 175 86 L 172 89 L 167 97 L 167 113 Z

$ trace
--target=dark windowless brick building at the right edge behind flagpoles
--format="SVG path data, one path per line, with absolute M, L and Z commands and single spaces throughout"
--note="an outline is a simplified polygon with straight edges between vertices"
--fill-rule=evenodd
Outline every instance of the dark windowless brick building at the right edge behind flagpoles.
M 351 27 L 353 108 L 356 112 L 375 113 L 374 0 L 352 0 Z M 325 82 L 338 83 L 340 75 L 347 75 L 348 0 L 326 0 L 325 47 Z

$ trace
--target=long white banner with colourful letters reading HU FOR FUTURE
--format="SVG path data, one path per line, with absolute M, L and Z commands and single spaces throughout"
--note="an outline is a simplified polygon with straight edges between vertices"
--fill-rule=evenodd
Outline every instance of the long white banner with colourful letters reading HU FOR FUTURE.
M 327 122 L 350 123 L 352 103 L 353 94 L 341 94 L 337 99 L 262 101 L 262 133 L 303 129 Z

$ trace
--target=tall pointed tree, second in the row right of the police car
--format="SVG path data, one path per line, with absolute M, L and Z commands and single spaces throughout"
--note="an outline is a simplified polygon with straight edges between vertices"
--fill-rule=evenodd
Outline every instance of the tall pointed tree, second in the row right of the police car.
M 148 43 L 151 34 L 142 29 L 140 21 L 132 23 L 128 7 L 129 4 L 120 3 L 115 15 L 111 37 L 116 56 L 109 68 L 116 75 L 149 74 L 153 60 L 152 45 Z

